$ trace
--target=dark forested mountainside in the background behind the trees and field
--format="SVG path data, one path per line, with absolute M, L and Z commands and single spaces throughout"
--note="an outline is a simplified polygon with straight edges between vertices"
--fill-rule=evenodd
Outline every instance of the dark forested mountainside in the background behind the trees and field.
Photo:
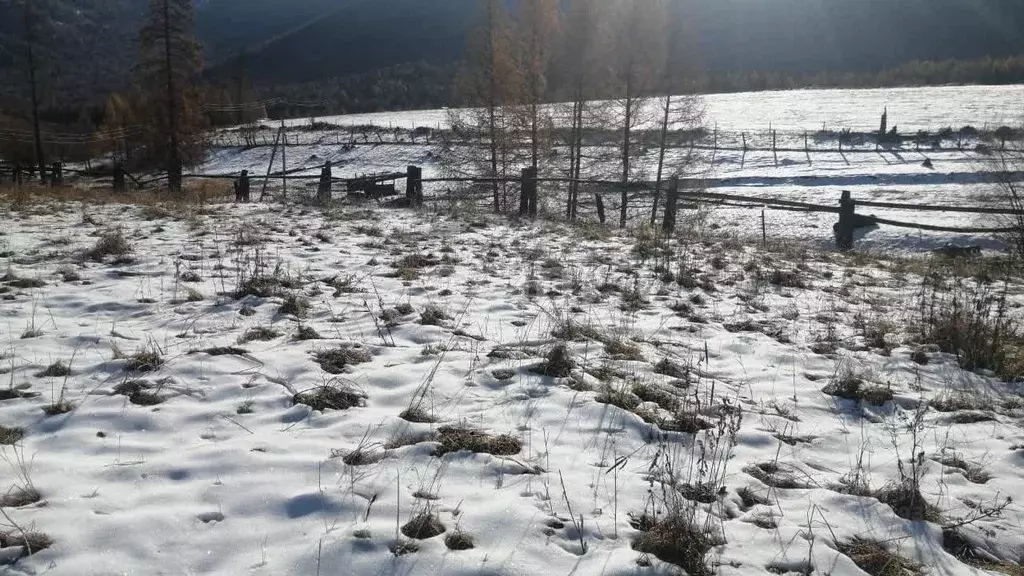
M 0 98 L 7 102 L 18 100 L 24 84 L 18 1 L 0 0 Z M 145 0 L 33 1 L 47 6 L 53 20 L 52 36 L 45 39 L 44 99 L 95 100 L 131 81 L 136 29 Z M 674 1 L 684 5 L 696 31 L 695 59 L 705 70 L 728 79 L 712 82 L 711 87 L 758 87 L 763 78 L 743 80 L 752 71 L 771 72 L 774 76 L 768 78 L 776 80 L 826 72 L 816 78 L 828 81 L 839 73 L 858 73 L 862 78 L 867 71 L 914 59 L 1024 53 L 1021 0 Z M 198 0 L 198 34 L 212 79 L 243 76 L 274 86 L 276 93 L 294 95 L 344 92 L 374 108 L 377 105 L 367 94 L 353 95 L 350 90 L 391 89 L 397 83 L 415 91 L 415 85 L 408 85 L 415 82 L 409 75 L 413 65 L 433 71 L 431 81 L 443 78 L 438 71 L 454 68 L 479 4 L 478 0 Z M 391 79 L 389 71 L 399 71 L 400 81 Z M 845 78 L 852 82 L 853 77 Z M 787 82 L 761 83 L 784 87 Z M 284 85 L 295 87 L 282 90 Z M 427 92 L 398 100 L 443 97 L 437 87 Z

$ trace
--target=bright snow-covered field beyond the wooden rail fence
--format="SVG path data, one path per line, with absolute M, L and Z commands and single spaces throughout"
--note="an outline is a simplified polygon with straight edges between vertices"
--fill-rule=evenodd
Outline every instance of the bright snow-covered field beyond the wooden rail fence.
M 992 186 L 991 156 L 979 154 L 975 140 L 957 150 L 955 140 L 945 140 L 943 149 L 922 148 L 912 143 L 873 151 L 873 145 L 861 146 L 856 153 L 840 154 L 835 139 L 811 141 L 810 147 L 833 152 L 780 152 L 777 155 L 763 152 L 771 148 L 769 128 L 779 130 L 779 147 L 804 147 L 803 133 L 813 134 L 827 128 L 856 131 L 877 130 L 883 110 L 888 109 L 889 126 L 898 126 L 901 133 L 912 134 L 918 130 L 933 133 L 945 127 L 959 129 L 975 126 L 992 130 L 997 126 L 1020 124 L 1024 118 L 1024 86 L 967 86 L 937 88 L 898 88 L 878 90 L 796 90 L 787 92 L 755 92 L 741 94 L 712 94 L 705 96 L 706 124 L 722 130 L 722 146 L 739 147 L 736 140 L 745 132 L 750 151 L 696 151 L 674 150 L 669 155 L 667 170 L 674 172 L 678 166 L 691 165 L 687 175 L 708 178 L 711 192 L 763 196 L 835 205 L 841 191 L 849 190 L 856 200 L 884 201 L 909 204 L 954 206 L 1000 206 L 997 191 Z M 383 128 L 441 127 L 446 125 L 445 111 L 399 112 L 371 115 L 317 118 L 338 126 L 373 124 Z M 294 120 L 289 124 L 297 128 L 308 120 Z M 370 137 L 354 148 L 339 146 L 347 141 L 331 131 L 294 134 L 309 146 L 288 149 L 288 166 L 300 174 L 316 175 L 319 166 L 330 160 L 334 175 L 351 177 L 374 172 L 404 171 L 409 165 L 424 168 L 426 177 L 439 175 L 437 151 L 425 143 L 409 138 L 403 145 L 376 145 Z M 342 139 L 338 139 L 342 138 Z M 706 142 L 708 143 L 708 142 Z M 988 142 L 991 146 L 991 142 Z M 997 146 L 997 145 L 996 145 Z M 607 151 L 604 151 L 607 153 Z M 214 174 L 239 173 L 243 169 L 262 174 L 271 158 L 270 148 L 219 149 L 214 152 L 201 171 Z M 597 152 L 594 152 L 597 154 Z M 562 155 L 566 157 L 567 155 Z M 690 157 L 695 162 L 685 162 Z M 931 167 L 924 166 L 931 160 Z M 280 169 L 280 155 L 274 169 Z M 636 165 L 638 178 L 653 178 L 657 162 L 656 150 Z M 558 166 L 551 167 L 551 175 L 561 175 Z M 588 170 L 587 177 L 618 177 L 614 159 L 597 163 Z M 314 187 L 315 182 L 308 183 Z M 428 184 L 427 194 L 444 195 L 449 184 Z M 614 195 L 607 202 L 612 208 Z M 561 195 L 556 189 L 542 188 L 542 199 L 547 197 L 553 211 Z M 611 208 L 609 208 L 611 209 Z M 899 221 L 971 228 L 1001 228 L 1005 222 L 989 215 L 949 214 L 940 212 L 914 212 L 904 210 L 866 209 L 867 213 Z M 593 217 L 593 210 L 588 217 Z M 639 215 L 639 214 L 638 214 Z M 718 209 L 710 215 L 713 221 L 730 232 L 758 236 L 761 233 L 760 210 Z M 831 242 L 834 216 L 822 214 L 795 214 L 787 211 L 769 211 L 766 215 L 768 235 L 774 239 L 810 240 L 824 246 Z M 947 233 L 922 233 L 914 230 L 883 227 L 866 235 L 862 248 L 879 251 L 920 252 L 945 244 L 972 245 L 998 249 L 1000 244 L 986 236 Z

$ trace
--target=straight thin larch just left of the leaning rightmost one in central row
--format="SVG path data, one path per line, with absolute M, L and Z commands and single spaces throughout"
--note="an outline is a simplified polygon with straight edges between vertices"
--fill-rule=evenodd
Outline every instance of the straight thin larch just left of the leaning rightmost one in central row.
M 650 120 L 647 94 L 657 86 L 665 67 L 667 0 L 618 0 L 614 23 L 612 78 L 617 84 L 617 123 L 622 128 L 622 205 L 618 225 L 629 216 L 629 188 L 633 179 L 636 130 Z

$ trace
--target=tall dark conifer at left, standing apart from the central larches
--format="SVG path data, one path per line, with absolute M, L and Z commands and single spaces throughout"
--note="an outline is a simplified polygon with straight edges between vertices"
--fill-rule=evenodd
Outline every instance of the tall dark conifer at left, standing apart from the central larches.
M 193 0 L 150 0 L 139 34 L 140 81 L 155 115 L 151 146 L 163 157 L 172 193 L 181 192 L 182 166 L 202 156 L 202 114 L 195 82 L 200 45 L 193 36 Z

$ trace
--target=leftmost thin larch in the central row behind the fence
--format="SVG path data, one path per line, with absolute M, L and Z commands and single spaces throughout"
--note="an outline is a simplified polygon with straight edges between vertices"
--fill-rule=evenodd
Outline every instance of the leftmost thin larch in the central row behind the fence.
M 485 0 L 466 54 L 456 91 L 469 108 L 450 110 L 449 121 L 455 138 L 471 146 L 442 143 L 441 158 L 451 172 L 464 174 L 469 168 L 474 175 L 490 178 L 494 209 L 501 212 L 508 208 L 505 180 L 515 153 L 511 108 L 522 101 L 523 92 L 513 25 L 503 0 Z

